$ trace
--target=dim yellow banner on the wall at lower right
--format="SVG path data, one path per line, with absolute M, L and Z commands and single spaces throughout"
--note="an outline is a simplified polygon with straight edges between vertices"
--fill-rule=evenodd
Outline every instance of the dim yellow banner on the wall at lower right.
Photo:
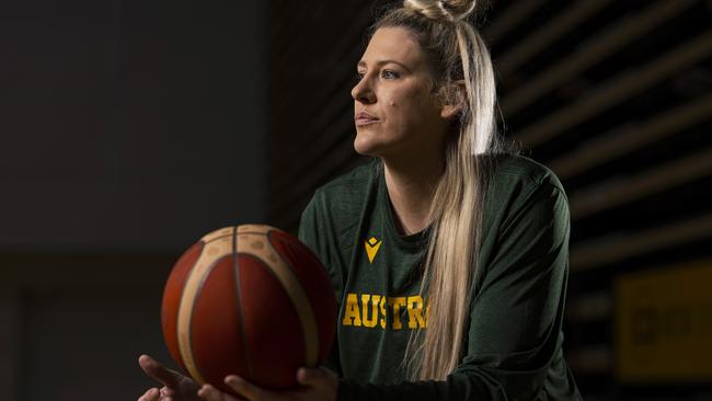
M 712 260 L 618 276 L 621 381 L 712 380 Z

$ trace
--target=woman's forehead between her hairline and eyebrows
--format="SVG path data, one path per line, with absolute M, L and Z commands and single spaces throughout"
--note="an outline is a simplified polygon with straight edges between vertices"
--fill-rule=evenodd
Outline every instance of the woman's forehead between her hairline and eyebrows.
M 410 68 L 424 64 L 425 55 L 415 37 L 402 27 L 381 27 L 374 33 L 359 65 L 393 60 Z

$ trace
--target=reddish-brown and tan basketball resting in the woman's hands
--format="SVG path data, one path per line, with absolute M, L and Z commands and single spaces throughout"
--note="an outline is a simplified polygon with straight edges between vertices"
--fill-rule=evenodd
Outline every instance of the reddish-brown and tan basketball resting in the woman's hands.
M 263 225 L 208 233 L 179 259 L 161 308 L 171 356 L 199 385 L 229 393 L 236 374 L 268 389 L 318 367 L 336 329 L 336 299 L 321 262 L 297 238 Z

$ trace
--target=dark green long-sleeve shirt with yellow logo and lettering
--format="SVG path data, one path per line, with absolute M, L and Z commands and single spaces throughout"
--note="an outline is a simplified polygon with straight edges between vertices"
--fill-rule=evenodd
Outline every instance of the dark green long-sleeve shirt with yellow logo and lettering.
M 427 233 L 400 236 L 377 160 L 320 187 L 300 239 L 322 260 L 338 300 L 326 366 L 340 400 L 577 400 L 562 355 L 569 205 L 556 176 L 517 156 L 495 161 L 485 192 L 464 355 L 447 380 L 404 381 L 411 330 L 427 330 L 418 296 Z

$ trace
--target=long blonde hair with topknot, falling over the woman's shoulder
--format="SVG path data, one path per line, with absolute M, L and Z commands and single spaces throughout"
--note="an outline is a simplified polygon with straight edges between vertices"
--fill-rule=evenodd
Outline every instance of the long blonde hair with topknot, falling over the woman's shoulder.
M 496 93 L 490 53 L 466 19 L 473 0 L 405 0 L 371 28 L 403 27 L 425 51 L 444 104 L 458 104 L 448 136 L 445 169 L 429 211 L 429 242 L 421 295 L 427 330 L 411 332 L 403 365 L 411 380 L 445 379 L 459 364 L 470 302 L 480 282 L 483 192 L 491 174 L 482 153 L 498 152 Z

